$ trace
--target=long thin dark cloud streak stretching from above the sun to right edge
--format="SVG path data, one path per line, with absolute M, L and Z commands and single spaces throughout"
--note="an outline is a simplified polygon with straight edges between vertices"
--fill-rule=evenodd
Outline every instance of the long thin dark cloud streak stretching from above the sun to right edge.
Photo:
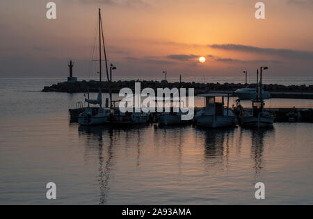
M 261 53 L 266 55 L 277 55 L 282 58 L 312 60 L 313 53 L 307 51 L 296 51 L 291 49 L 271 49 L 256 46 L 246 46 L 241 44 L 213 44 L 209 45 L 212 49 L 223 49 L 227 51 L 242 51 L 248 53 Z

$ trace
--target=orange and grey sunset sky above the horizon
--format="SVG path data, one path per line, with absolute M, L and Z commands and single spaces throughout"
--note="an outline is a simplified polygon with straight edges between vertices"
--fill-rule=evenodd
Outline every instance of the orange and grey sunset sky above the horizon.
M 252 0 L 55 0 L 48 20 L 48 2 L 0 1 L 0 78 L 66 77 L 70 59 L 77 76 L 93 75 L 97 8 L 118 76 L 236 76 L 260 66 L 313 76 L 313 0 L 263 0 L 266 19 L 255 18 Z

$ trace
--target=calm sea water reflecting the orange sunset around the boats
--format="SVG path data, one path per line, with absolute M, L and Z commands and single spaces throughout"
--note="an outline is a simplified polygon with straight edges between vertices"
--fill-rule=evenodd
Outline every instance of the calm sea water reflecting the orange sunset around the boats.
M 313 204 L 311 123 L 81 128 L 67 109 L 83 95 L 40 92 L 52 82 L 0 80 L 0 204 Z M 55 201 L 46 200 L 48 182 Z M 266 200 L 255 200 L 257 182 Z

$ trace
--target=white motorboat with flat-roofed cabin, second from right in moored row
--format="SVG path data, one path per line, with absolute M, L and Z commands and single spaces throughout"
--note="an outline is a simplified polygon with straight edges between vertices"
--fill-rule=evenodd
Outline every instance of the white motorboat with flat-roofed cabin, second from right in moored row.
M 236 116 L 229 109 L 229 95 L 201 94 L 205 97 L 205 107 L 195 115 L 195 124 L 206 128 L 222 128 L 236 125 Z M 228 96 L 228 106 L 224 106 L 224 97 Z

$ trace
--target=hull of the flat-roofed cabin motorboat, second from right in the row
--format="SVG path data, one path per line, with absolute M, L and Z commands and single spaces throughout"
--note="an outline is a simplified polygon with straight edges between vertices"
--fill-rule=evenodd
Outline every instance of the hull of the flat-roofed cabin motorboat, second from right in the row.
M 235 125 L 234 116 L 198 116 L 195 124 L 205 128 L 223 128 Z

